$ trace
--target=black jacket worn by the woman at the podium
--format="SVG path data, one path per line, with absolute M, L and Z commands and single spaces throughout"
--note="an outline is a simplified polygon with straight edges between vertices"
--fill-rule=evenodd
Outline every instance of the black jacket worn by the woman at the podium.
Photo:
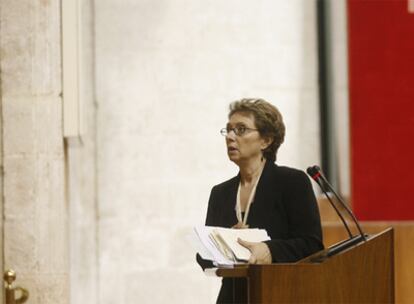
M 207 226 L 232 227 L 240 174 L 211 190 Z M 247 219 L 250 228 L 266 229 L 273 263 L 295 262 L 323 249 L 322 229 L 315 194 L 303 171 L 279 167 L 269 161 L 260 177 Z M 205 268 L 200 257 L 200 265 Z M 245 279 L 223 279 L 217 303 L 247 300 Z

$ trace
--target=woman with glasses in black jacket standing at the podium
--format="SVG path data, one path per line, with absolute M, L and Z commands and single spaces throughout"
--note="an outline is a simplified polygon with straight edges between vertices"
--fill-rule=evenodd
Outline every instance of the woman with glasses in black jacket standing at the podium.
M 213 187 L 206 225 L 263 228 L 271 240 L 250 243 L 249 263 L 294 262 L 323 249 L 318 207 L 302 171 L 276 165 L 285 126 L 279 111 L 263 99 L 230 105 L 226 137 L 229 159 L 239 174 Z M 205 263 L 197 257 L 204 268 Z M 246 303 L 246 279 L 224 278 L 217 303 Z

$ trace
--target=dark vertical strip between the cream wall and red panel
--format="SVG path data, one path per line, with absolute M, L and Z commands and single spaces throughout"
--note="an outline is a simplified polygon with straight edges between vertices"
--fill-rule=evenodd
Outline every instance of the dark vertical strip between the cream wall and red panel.
M 319 80 L 319 119 L 321 142 L 321 167 L 328 179 L 330 168 L 330 125 L 329 125 L 329 91 L 328 91 L 328 52 L 326 33 L 326 0 L 317 0 L 317 36 L 318 36 L 318 80 Z

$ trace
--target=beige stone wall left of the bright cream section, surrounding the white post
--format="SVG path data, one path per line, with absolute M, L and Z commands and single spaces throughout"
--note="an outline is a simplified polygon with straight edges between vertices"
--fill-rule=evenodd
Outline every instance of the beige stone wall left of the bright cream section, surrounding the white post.
M 28 303 L 98 303 L 93 6 L 82 1 L 86 133 L 68 146 L 60 9 L 60 1 L 0 2 L 1 268 L 16 271 Z

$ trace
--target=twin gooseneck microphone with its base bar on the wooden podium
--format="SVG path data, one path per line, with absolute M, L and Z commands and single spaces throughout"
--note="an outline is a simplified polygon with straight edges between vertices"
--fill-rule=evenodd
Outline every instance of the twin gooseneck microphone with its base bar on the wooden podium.
M 319 168 L 319 166 L 311 166 L 308 167 L 308 169 L 306 170 L 306 172 L 308 173 L 308 175 L 319 185 L 319 187 L 321 188 L 322 192 L 325 194 L 325 196 L 327 197 L 328 201 L 330 202 L 331 206 L 335 209 L 336 213 L 338 214 L 338 216 L 340 217 L 343 225 L 345 226 L 348 234 L 349 234 L 349 239 L 339 243 L 335 246 L 332 246 L 327 255 L 331 256 L 334 255 L 354 244 L 359 243 L 361 240 L 366 241 L 366 236 L 365 234 L 362 232 L 361 226 L 359 225 L 355 215 L 353 214 L 353 212 L 351 211 L 351 209 L 348 207 L 348 205 L 345 203 L 345 201 L 335 192 L 335 190 L 333 189 L 333 187 L 331 186 L 331 184 L 328 182 L 328 180 L 325 178 L 325 176 L 322 174 L 321 168 Z M 344 217 L 342 216 L 341 212 L 338 210 L 338 208 L 335 206 L 335 204 L 332 202 L 331 198 L 329 197 L 328 192 L 332 192 L 334 194 L 334 196 L 336 197 L 336 199 L 338 200 L 338 202 L 345 208 L 345 210 L 348 212 L 348 214 L 351 216 L 352 220 L 354 221 L 355 225 L 358 228 L 359 231 L 359 235 L 357 236 L 353 236 L 348 224 L 346 223 Z

